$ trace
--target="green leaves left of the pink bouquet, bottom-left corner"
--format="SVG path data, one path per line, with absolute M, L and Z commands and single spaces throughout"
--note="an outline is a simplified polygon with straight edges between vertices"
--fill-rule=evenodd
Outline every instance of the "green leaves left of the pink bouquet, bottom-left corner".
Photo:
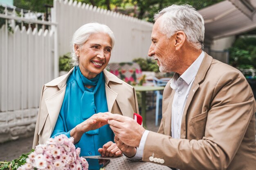
M 18 167 L 26 163 L 28 155 L 32 152 L 34 152 L 34 149 L 32 149 L 29 153 L 22 154 L 18 159 L 13 159 L 10 162 L 0 162 L 0 170 L 17 170 Z

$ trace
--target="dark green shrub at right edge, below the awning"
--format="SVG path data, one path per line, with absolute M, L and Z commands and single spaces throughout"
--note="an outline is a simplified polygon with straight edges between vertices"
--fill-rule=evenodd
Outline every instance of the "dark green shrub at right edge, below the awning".
M 236 68 L 256 68 L 256 38 L 240 37 L 229 48 L 229 63 Z

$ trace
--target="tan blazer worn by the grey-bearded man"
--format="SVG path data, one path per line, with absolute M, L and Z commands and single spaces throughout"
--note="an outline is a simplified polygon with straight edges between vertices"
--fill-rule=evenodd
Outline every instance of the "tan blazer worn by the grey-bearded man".
M 241 72 L 205 53 L 187 97 L 180 131 L 171 137 L 170 82 L 158 133 L 146 139 L 143 161 L 164 159 L 182 170 L 255 170 L 255 100 Z

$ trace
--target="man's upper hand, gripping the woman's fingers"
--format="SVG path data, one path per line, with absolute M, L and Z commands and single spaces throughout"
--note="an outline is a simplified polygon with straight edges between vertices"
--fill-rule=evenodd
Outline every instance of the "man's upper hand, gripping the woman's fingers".
M 108 124 L 115 135 L 128 146 L 139 147 L 145 129 L 135 120 L 119 114 L 108 114 Z

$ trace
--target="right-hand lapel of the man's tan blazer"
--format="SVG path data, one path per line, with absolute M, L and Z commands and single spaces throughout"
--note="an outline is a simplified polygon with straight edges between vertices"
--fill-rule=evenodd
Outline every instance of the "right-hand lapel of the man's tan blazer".
M 209 69 L 212 60 L 213 60 L 212 57 L 209 56 L 207 53 L 205 53 L 204 59 L 200 65 L 198 73 L 195 76 L 193 85 L 191 86 L 191 89 L 189 91 L 189 96 L 186 100 L 186 104 L 185 104 L 183 115 L 182 115 L 182 122 L 181 122 L 181 128 L 180 128 L 180 138 L 181 139 L 186 138 L 186 118 L 187 118 L 188 108 L 193 99 L 193 96 L 195 95 L 196 91 L 200 87 L 200 82 L 204 79 L 204 76 L 207 73 L 207 70 Z

